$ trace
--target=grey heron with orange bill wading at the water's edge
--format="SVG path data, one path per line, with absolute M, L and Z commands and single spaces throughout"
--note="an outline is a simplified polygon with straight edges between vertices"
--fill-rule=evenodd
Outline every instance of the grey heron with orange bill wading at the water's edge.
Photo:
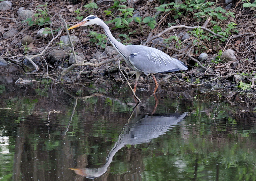
M 170 57 L 156 48 L 143 45 L 123 45 L 113 37 L 108 25 L 100 18 L 93 15 L 87 16 L 83 21 L 71 26 L 68 30 L 78 26 L 88 26 L 93 24 L 99 25 L 104 29 L 106 36 L 116 51 L 123 57 L 124 61 L 135 70 L 136 77 L 133 88 L 134 92 L 136 91 L 137 82 L 141 73 L 152 75 L 155 81 L 155 89 L 153 92 L 153 94 L 155 94 L 156 89 L 158 88 L 158 83 L 153 73 L 175 72 L 188 69 L 187 65 L 183 62 Z

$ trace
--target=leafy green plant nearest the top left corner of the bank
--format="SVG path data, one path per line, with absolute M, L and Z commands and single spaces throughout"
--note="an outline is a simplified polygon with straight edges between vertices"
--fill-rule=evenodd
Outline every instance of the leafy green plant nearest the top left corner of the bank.
M 37 8 L 42 7 L 42 9 L 37 9 L 36 12 L 38 11 L 38 13 L 34 14 L 34 20 L 33 18 L 27 18 L 24 21 L 28 22 L 29 26 L 32 25 L 38 25 L 38 26 L 42 26 L 42 25 L 46 25 L 46 24 L 51 24 L 50 21 L 50 16 L 49 16 L 49 11 L 47 9 L 47 2 L 45 4 L 41 4 L 36 6 Z

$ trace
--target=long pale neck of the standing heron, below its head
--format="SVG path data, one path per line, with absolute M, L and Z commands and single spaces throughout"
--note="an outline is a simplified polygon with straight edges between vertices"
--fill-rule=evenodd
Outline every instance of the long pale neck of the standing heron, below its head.
M 119 53 L 119 54 L 121 54 L 123 57 L 129 57 L 129 55 L 126 53 L 126 49 L 125 49 L 125 45 L 123 45 L 121 42 L 119 42 L 119 41 L 117 41 L 114 37 L 113 37 L 113 35 L 112 35 L 112 33 L 110 32 L 110 30 L 109 30 L 109 27 L 108 27 L 108 25 L 107 24 L 103 24 L 103 25 L 101 25 L 102 26 L 102 28 L 104 29 L 104 31 L 105 31 L 105 33 L 106 33 L 106 36 L 108 37 L 108 39 L 109 39 L 109 41 L 110 41 L 110 43 L 114 46 L 114 48 L 117 50 L 117 52 Z

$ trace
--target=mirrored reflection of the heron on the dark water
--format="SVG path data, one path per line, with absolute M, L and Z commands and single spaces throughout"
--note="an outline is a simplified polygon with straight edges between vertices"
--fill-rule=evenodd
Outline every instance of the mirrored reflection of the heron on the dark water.
M 168 116 L 148 116 L 141 119 L 135 119 L 124 126 L 123 131 L 119 135 L 119 140 L 115 143 L 109 152 L 106 163 L 99 168 L 78 168 L 71 169 L 76 174 L 87 177 L 96 178 L 107 172 L 112 159 L 117 151 L 125 145 L 135 145 L 148 143 L 154 138 L 165 134 L 170 128 L 179 123 L 187 114 L 172 114 Z

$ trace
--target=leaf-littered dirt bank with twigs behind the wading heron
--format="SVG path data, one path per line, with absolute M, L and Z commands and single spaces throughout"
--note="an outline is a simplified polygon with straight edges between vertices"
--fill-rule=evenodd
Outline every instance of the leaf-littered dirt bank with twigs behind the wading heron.
M 74 50 L 78 56 L 83 57 L 85 63 L 73 64 L 70 71 L 65 71 L 67 67 L 70 67 L 69 56 L 72 52 L 70 47 L 62 46 L 62 41 L 60 41 L 60 37 L 67 33 L 59 15 L 65 19 L 69 27 L 81 21 L 81 18 L 95 15 L 108 23 L 114 37 L 119 38 L 122 43 L 153 46 L 188 65 L 187 71 L 157 74 L 156 79 L 162 85 L 181 84 L 183 86 L 226 89 L 238 86 L 239 90 L 255 89 L 255 8 L 253 6 L 245 7 L 245 1 L 233 1 L 230 8 L 226 7 L 225 1 L 213 2 L 204 8 L 198 8 L 193 4 L 189 5 L 188 2 L 192 1 L 180 1 L 187 5 L 187 9 L 174 8 L 171 4 L 164 7 L 166 9 L 163 11 L 158 11 L 160 9 L 155 7 L 170 2 L 100 0 L 94 2 L 96 8 L 88 6 L 88 4 L 92 4 L 91 1 L 21 0 L 10 2 L 12 8 L 0 12 L 0 32 L 2 34 L 0 36 L 0 56 L 8 63 L 8 66 L 1 67 L 2 73 L 33 73 L 37 77 L 50 77 L 54 81 L 61 82 L 83 82 L 88 79 L 95 81 L 104 78 L 124 81 L 116 68 L 120 58 L 116 57 L 114 51 L 107 52 L 107 55 L 102 57 L 95 55 L 106 51 L 104 49 L 106 42 L 104 41 L 106 40 L 104 31 L 97 25 L 69 31 L 70 35 L 75 35 L 78 38 Z M 201 0 L 199 2 L 209 3 L 210 1 Z M 251 1 L 251 3 L 255 2 Z M 29 21 L 24 22 L 18 16 L 17 11 L 22 7 L 34 12 Z M 126 11 L 120 10 L 127 8 L 134 8 L 131 10 L 133 16 L 128 14 L 125 17 Z M 111 14 L 108 14 L 109 11 Z M 122 13 L 122 11 L 124 12 Z M 141 21 L 136 22 L 133 19 L 128 26 L 125 25 L 125 21 L 122 19 L 134 18 L 135 14 L 137 17 L 141 17 Z M 149 17 L 149 22 L 147 17 Z M 115 21 L 117 18 L 121 18 L 122 25 L 118 26 Z M 108 22 L 112 20 L 115 22 Z M 150 22 L 154 24 L 154 21 L 155 26 L 152 24 L 150 26 Z M 177 25 L 185 26 L 179 26 L 163 33 L 170 26 Z M 200 26 L 201 28 L 194 29 L 187 28 L 187 26 Z M 38 35 L 38 31 L 42 28 L 46 28 L 44 31 L 48 32 L 47 37 Z M 4 37 L 4 33 L 13 29 L 16 31 L 10 37 Z M 208 30 L 216 34 L 213 35 Z M 92 31 L 98 34 L 93 35 L 90 33 Z M 184 37 L 185 33 L 188 33 L 188 37 Z M 23 45 L 22 38 L 26 35 L 32 37 L 32 42 Z M 155 41 L 157 37 L 155 35 L 159 35 L 162 39 Z M 173 38 L 176 35 L 179 38 Z M 107 46 L 111 46 L 111 44 L 107 42 Z M 232 55 L 221 60 L 221 55 L 229 49 L 233 50 L 233 52 L 231 51 Z M 66 54 L 62 59 L 53 61 L 49 58 L 49 52 L 52 50 L 62 50 Z M 206 53 L 208 58 L 200 59 L 201 53 Z M 38 70 L 35 71 L 35 65 L 29 61 L 26 62 L 25 56 L 38 54 L 41 56 L 33 59 L 38 67 Z M 108 61 L 109 59 L 110 61 Z M 100 63 L 104 61 L 107 63 Z M 124 74 L 132 82 L 135 72 L 122 59 L 120 59 L 120 67 L 125 70 Z M 153 79 L 142 75 L 138 86 L 147 90 L 149 84 L 153 84 Z

